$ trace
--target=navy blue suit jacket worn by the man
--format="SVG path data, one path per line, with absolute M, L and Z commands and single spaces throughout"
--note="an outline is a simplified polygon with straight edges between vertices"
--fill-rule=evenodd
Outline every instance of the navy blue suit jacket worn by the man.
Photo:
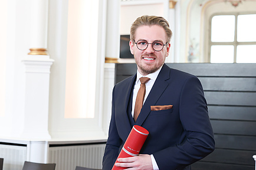
M 130 112 L 135 79 L 136 75 L 130 76 L 113 88 L 104 170 L 113 167 L 133 125 L 149 131 L 140 154 L 153 154 L 160 170 L 184 169 L 214 151 L 204 91 L 196 76 L 164 64 L 136 123 Z M 155 105 L 173 105 L 173 108 L 151 111 L 150 106 Z

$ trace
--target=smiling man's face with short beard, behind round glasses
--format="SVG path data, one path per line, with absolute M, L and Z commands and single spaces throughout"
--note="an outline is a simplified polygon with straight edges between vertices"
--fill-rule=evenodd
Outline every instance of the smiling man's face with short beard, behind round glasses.
M 130 41 L 130 51 L 134 55 L 135 62 L 137 64 L 138 71 L 143 76 L 157 71 L 164 63 L 166 56 L 169 55 L 170 44 L 163 46 L 161 51 L 155 51 L 152 48 L 152 42 L 161 41 L 166 44 L 165 29 L 159 25 L 152 26 L 140 26 L 135 33 L 134 41 L 146 40 L 149 44 L 145 50 L 137 48 L 133 41 Z

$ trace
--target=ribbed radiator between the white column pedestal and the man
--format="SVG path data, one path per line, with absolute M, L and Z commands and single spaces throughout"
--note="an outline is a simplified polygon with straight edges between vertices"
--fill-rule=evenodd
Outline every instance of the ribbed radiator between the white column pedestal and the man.
M 102 168 L 102 158 L 106 144 L 51 146 L 49 163 L 55 163 L 55 170 L 75 170 L 76 166 Z

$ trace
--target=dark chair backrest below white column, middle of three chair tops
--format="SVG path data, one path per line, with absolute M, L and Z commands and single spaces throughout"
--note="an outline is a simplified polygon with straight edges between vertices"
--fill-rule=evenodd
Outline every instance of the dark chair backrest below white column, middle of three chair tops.
M 24 162 L 22 170 L 54 170 L 56 164 L 41 164 L 35 162 Z

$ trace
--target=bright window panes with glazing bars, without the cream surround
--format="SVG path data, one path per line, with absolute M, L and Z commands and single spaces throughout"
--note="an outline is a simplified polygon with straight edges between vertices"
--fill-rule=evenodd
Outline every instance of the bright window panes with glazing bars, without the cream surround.
M 216 14 L 210 24 L 211 62 L 256 62 L 256 14 Z

